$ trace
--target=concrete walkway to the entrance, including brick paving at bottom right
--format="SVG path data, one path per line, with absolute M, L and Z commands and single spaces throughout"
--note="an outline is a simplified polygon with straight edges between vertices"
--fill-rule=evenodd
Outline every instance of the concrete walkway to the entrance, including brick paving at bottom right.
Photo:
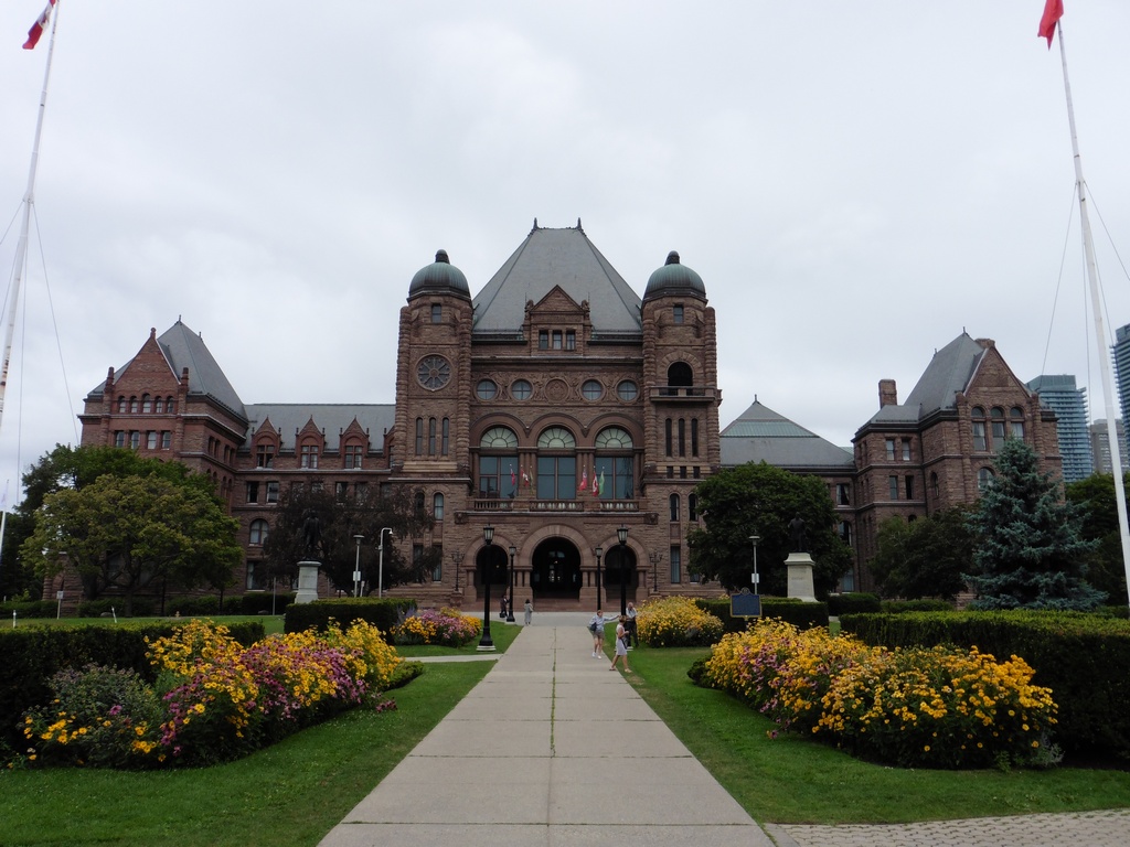
M 320 847 L 1123 847 L 1130 810 L 905 826 L 755 823 L 609 660 L 536 614 Z M 493 622 L 492 626 L 503 626 Z

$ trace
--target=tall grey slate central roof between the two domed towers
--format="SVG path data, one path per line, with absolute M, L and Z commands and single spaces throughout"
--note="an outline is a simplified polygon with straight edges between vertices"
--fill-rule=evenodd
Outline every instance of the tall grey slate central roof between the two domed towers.
M 577 305 L 589 302 L 596 332 L 640 332 L 642 302 L 581 229 L 533 229 L 475 297 L 476 332 L 513 332 L 525 322 L 525 303 L 557 286 Z

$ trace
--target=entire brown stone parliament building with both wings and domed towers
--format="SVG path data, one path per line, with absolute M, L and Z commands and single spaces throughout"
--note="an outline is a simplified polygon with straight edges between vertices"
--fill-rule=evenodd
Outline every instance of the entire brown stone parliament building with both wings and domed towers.
M 756 400 L 720 429 L 715 315 L 702 278 L 671 252 L 646 281 L 627 281 L 580 221 L 534 221 L 473 296 L 440 251 L 408 282 L 395 367 L 394 403 L 244 403 L 177 321 L 87 395 L 82 444 L 209 474 L 241 525 L 236 591 L 268 587 L 262 543 L 287 487 L 318 483 L 341 497 L 407 487 L 434 527 L 389 543 L 405 557 L 438 548 L 440 564 L 428 582 L 391 593 L 468 610 L 481 605 L 484 579 L 497 595 L 511 566 L 518 604 L 532 597 L 542 610 L 594 609 L 598 591 L 616 608 L 621 579 L 636 604 L 716 594 L 688 568 L 695 486 L 748 461 L 826 480 L 857 551 L 844 590 L 870 587 L 866 562 L 885 517 L 974 500 L 1006 435 L 1059 466 L 1054 414 L 992 341 L 964 333 L 905 403 L 880 383 L 879 409 L 853 447 Z

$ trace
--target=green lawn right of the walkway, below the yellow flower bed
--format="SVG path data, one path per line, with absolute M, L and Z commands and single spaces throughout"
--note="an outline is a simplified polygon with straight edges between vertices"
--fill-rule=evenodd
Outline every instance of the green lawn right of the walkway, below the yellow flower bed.
M 771 721 L 687 678 L 702 655 L 702 648 L 635 649 L 627 679 L 755 820 L 907 823 L 1130 806 L 1130 772 L 1122 770 L 909 770 L 798 735 L 771 740 Z

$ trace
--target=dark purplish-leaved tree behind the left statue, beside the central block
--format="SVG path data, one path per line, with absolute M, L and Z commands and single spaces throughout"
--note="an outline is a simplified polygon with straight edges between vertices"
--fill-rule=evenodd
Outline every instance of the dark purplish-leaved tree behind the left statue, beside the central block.
M 377 497 L 338 499 L 316 484 L 292 486 L 279 498 L 275 525 L 263 543 L 263 558 L 273 576 L 293 578 L 298 562 L 307 558 L 303 523 L 311 510 L 321 527 L 321 552 L 316 558 L 330 582 L 341 591 L 353 592 L 358 557 L 366 593 L 376 591 L 379 583 L 389 588 L 424 582 L 437 564 L 437 549 L 428 545 L 418 559 L 408 560 L 393 539 L 385 538 L 382 565 L 377 547 L 382 529 L 391 529 L 392 535 L 403 541 L 421 538 L 435 525 L 411 490 L 394 486 Z M 364 535 L 359 555 L 355 538 L 358 534 Z

